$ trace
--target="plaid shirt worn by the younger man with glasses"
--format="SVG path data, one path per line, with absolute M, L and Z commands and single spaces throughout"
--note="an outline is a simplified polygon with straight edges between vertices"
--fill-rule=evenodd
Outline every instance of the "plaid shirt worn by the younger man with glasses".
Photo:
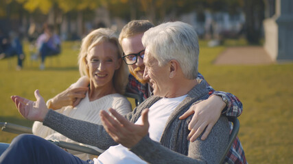
M 204 79 L 202 74 L 198 73 L 197 80 Z M 213 90 L 213 87 L 211 85 L 207 85 L 207 89 L 209 90 L 209 95 L 218 95 L 221 97 L 226 98 L 227 105 L 226 108 L 222 111 L 222 114 L 226 114 L 227 116 L 235 116 L 238 117 L 242 113 L 242 102 L 239 101 L 239 99 L 234 96 L 233 94 L 221 92 L 221 91 L 215 91 Z M 141 94 L 143 95 L 143 100 L 150 97 L 152 95 L 152 92 L 150 92 L 150 86 L 148 83 L 142 84 L 135 79 L 132 74 L 129 74 L 128 76 L 128 85 L 126 87 L 127 92 L 131 92 L 134 94 Z M 230 123 L 231 124 L 231 123 Z M 233 128 L 231 124 L 231 129 Z M 233 142 L 233 145 L 228 152 L 226 159 L 224 161 L 225 163 L 239 163 L 239 164 L 245 164 L 246 158 L 244 154 L 244 150 L 242 148 L 242 145 L 240 143 L 240 140 L 238 137 L 236 137 L 235 141 Z

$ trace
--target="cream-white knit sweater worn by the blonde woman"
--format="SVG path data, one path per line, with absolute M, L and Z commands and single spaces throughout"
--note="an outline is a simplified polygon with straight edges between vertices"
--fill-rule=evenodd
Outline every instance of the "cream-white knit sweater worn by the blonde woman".
M 71 106 L 62 107 L 61 109 L 58 109 L 56 111 L 62 113 L 63 115 L 67 115 L 70 118 L 85 120 L 87 122 L 93 122 L 95 124 L 102 124 L 102 120 L 99 118 L 99 111 L 105 110 L 108 112 L 109 108 L 113 108 L 121 115 L 125 115 L 126 113 L 129 113 L 131 111 L 131 104 L 127 100 L 127 98 L 122 96 L 121 94 L 109 94 L 97 100 L 89 101 L 88 93 L 86 93 L 86 97 L 80 101 L 80 104 L 78 106 L 74 108 L 72 108 Z M 43 126 L 42 122 L 34 122 L 32 126 L 32 131 L 34 135 L 38 135 L 39 137 L 43 137 L 45 139 L 57 139 L 59 141 L 78 143 L 65 137 L 64 135 L 61 135 L 51 128 L 48 128 L 47 126 Z M 94 148 L 99 152 L 103 151 L 94 146 L 84 145 L 82 143 L 78 144 Z M 81 154 L 81 152 L 75 152 L 73 150 L 69 150 L 69 152 L 83 160 L 93 159 L 93 157 L 95 157 L 91 154 Z

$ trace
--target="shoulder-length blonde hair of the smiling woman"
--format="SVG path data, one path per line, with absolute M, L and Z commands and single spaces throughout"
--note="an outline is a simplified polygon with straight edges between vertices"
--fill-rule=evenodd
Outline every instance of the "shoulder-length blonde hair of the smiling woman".
M 121 58 L 121 47 L 118 43 L 117 35 L 115 31 L 108 28 L 99 28 L 91 31 L 86 37 L 82 39 L 82 46 L 80 46 L 80 53 L 78 55 L 78 64 L 80 70 L 80 76 L 86 75 L 89 77 L 89 69 L 86 66 L 86 55 L 89 51 L 102 42 L 111 42 L 117 46 L 117 58 Z M 113 75 L 113 85 L 115 90 L 119 94 L 124 94 L 126 85 L 128 83 L 128 67 L 121 61 L 121 66 L 118 70 L 115 70 Z

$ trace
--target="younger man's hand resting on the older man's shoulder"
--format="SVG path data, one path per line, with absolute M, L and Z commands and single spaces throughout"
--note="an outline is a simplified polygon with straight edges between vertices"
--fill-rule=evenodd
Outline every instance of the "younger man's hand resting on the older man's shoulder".
M 204 140 L 207 138 L 213 125 L 220 118 L 222 110 L 226 106 L 222 98 L 219 96 L 211 96 L 207 100 L 203 100 L 196 105 L 191 106 L 188 111 L 180 116 L 180 120 L 187 118 L 193 114 L 191 122 L 188 125 L 190 133 L 187 139 L 191 142 L 195 141 L 198 136 L 204 131 L 200 139 Z

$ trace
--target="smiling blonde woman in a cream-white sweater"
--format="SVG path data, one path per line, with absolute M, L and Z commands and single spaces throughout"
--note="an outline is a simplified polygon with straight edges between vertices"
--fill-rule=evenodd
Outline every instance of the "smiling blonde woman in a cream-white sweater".
M 115 31 L 101 28 L 89 33 L 82 40 L 78 58 L 82 78 L 69 89 L 48 100 L 47 107 L 71 118 L 95 124 L 102 124 L 99 118 L 101 110 L 113 108 L 121 115 L 130 112 L 130 102 L 122 96 L 128 83 L 128 68 L 121 61 L 121 49 Z M 89 87 L 79 87 L 84 86 L 85 83 L 89 83 Z M 70 94 L 73 96 L 69 96 Z M 79 104 L 72 105 L 73 101 L 79 101 Z M 45 139 L 76 143 L 43 126 L 41 122 L 34 122 L 33 133 Z M 89 147 L 99 150 L 93 146 Z M 93 159 L 90 154 L 80 154 L 71 150 L 69 152 L 80 159 Z

